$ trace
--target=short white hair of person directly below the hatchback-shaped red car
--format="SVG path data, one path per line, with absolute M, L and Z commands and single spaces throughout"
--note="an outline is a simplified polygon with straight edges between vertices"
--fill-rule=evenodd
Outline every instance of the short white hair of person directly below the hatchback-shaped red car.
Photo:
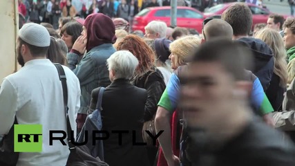
M 144 27 L 144 30 L 150 30 L 153 33 L 158 33 L 160 38 L 166 38 L 167 25 L 163 21 L 151 21 Z

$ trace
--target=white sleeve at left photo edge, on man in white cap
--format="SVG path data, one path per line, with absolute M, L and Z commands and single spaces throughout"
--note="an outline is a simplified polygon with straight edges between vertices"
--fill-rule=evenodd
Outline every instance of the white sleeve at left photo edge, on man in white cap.
M 0 135 L 8 133 L 15 122 L 17 111 L 17 91 L 4 79 L 0 88 Z

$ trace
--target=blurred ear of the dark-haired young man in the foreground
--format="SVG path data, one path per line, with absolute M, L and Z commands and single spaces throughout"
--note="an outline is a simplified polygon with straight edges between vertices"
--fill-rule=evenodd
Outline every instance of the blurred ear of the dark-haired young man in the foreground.
M 249 98 L 252 92 L 252 82 L 238 81 L 236 88 L 233 89 L 234 96 L 237 98 Z

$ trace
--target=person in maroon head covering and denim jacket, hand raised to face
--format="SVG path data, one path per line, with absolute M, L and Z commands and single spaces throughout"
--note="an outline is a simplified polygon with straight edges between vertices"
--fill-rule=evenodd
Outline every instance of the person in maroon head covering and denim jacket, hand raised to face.
M 77 75 L 81 86 L 81 104 L 77 116 L 78 132 L 86 120 L 88 106 L 91 103 L 91 91 L 99 86 L 106 87 L 111 84 L 106 59 L 115 53 L 115 39 L 115 25 L 112 19 L 101 13 L 91 14 L 84 22 L 82 36 L 78 37 L 67 55 L 68 67 Z M 84 55 L 85 50 L 87 53 Z M 79 61 L 81 56 L 83 58 Z

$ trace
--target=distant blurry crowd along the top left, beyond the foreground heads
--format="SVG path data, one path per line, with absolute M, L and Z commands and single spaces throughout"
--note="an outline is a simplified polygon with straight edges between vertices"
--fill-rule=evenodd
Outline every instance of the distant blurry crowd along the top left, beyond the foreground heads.
M 178 0 L 184 6 L 184 0 Z M 60 17 L 86 17 L 102 13 L 108 17 L 120 17 L 132 24 L 140 10 L 154 6 L 170 6 L 170 0 L 18 0 L 19 13 L 26 21 L 52 24 L 58 27 Z

